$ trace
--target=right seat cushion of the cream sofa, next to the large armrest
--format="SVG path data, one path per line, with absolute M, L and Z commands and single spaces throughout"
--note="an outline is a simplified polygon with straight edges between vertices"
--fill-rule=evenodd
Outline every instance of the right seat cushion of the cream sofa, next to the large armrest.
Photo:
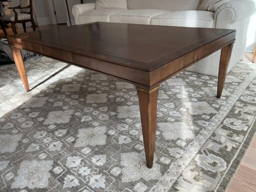
M 214 13 L 210 11 L 174 11 L 151 18 L 151 25 L 213 28 Z

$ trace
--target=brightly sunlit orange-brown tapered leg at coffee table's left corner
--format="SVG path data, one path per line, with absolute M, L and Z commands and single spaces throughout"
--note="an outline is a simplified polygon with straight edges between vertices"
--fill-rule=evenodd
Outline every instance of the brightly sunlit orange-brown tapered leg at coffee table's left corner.
M 16 67 L 20 74 L 21 80 L 24 84 L 26 91 L 28 92 L 29 91 L 28 79 L 27 79 L 27 74 L 26 74 L 26 70 L 25 70 L 25 66 L 23 63 L 20 49 L 16 48 L 16 47 L 11 47 L 11 51 L 12 51 L 12 56 L 15 61 Z

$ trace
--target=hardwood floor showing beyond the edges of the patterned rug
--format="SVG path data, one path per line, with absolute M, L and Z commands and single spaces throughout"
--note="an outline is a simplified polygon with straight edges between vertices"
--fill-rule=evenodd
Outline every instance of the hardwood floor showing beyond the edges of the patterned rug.
M 66 25 L 46 25 L 37 27 L 37 30 L 47 30 Z M 24 33 L 23 29 L 17 29 L 18 33 Z M 27 28 L 27 32 L 33 31 L 33 28 Z M 12 29 L 7 29 L 8 34 L 13 34 Z M 4 33 L 0 30 L 0 38 L 4 38 Z M 243 61 L 251 61 L 252 53 L 246 53 Z M 255 59 L 256 62 L 256 59 Z M 256 65 L 256 64 L 255 64 Z M 226 192 L 256 192 L 256 136 L 254 136 L 250 147 L 248 148 L 236 174 L 234 175 Z

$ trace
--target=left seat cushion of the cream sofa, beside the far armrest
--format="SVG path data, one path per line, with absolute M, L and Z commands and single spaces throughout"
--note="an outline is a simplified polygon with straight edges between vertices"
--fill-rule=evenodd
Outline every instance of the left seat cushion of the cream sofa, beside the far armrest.
M 109 22 L 110 15 L 125 11 L 125 9 L 94 9 L 83 13 L 78 16 L 80 24 L 91 22 Z

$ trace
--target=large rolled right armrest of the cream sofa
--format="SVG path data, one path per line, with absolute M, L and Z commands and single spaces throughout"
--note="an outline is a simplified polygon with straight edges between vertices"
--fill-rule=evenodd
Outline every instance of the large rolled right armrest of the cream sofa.
M 255 8 L 256 4 L 253 0 L 233 0 L 223 3 L 214 11 L 216 27 L 228 28 L 229 24 L 251 16 Z

